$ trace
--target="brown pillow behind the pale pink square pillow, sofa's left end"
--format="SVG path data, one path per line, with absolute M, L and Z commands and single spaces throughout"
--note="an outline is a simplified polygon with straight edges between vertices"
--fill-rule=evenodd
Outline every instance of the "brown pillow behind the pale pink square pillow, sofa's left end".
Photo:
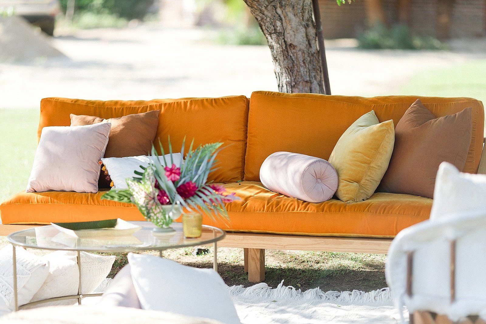
M 149 153 L 156 136 L 159 114 L 160 110 L 152 110 L 110 119 L 73 114 L 69 116 L 71 126 L 110 122 L 110 136 L 104 157 L 126 157 Z

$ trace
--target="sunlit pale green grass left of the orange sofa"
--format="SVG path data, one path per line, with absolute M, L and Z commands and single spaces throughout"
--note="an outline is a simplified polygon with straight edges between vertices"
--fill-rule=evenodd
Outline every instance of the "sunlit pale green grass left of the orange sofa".
M 27 186 L 38 124 L 38 109 L 0 109 L 0 202 Z

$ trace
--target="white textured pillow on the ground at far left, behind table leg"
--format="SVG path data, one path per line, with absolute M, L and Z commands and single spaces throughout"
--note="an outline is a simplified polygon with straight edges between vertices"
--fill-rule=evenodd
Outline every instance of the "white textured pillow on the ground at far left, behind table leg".
M 0 316 L 15 308 L 12 246 L 0 250 Z M 21 247 L 16 248 L 18 306 L 27 304 L 49 274 L 49 261 Z

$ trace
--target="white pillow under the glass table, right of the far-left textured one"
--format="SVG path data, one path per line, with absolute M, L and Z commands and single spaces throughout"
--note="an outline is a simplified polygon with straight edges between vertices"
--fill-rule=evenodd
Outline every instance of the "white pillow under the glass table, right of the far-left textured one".
M 35 293 L 32 302 L 78 293 L 79 269 L 76 252 L 56 251 L 45 256 L 49 260 L 49 275 Z M 81 292 L 92 293 L 110 273 L 115 256 L 99 256 L 81 252 Z M 74 300 L 51 302 L 46 305 L 69 305 Z

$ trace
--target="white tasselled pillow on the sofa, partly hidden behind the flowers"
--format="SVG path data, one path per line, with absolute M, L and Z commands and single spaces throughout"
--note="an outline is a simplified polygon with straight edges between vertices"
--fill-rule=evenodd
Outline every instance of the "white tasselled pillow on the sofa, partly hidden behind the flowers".
M 143 172 L 140 166 L 147 167 L 149 163 L 155 162 L 157 156 L 147 156 L 147 155 L 140 155 L 140 156 L 129 156 L 129 157 L 106 157 L 102 158 L 101 160 L 110 175 L 115 188 L 117 189 L 126 189 L 128 188 L 126 185 L 126 178 L 133 178 L 137 176 L 134 171 Z M 181 153 L 173 153 L 172 160 L 171 154 L 165 154 L 163 156 L 158 156 L 159 162 L 162 166 L 166 166 L 165 162 L 169 166 L 175 164 L 176 166 L 180 166 L 181 164 Z

